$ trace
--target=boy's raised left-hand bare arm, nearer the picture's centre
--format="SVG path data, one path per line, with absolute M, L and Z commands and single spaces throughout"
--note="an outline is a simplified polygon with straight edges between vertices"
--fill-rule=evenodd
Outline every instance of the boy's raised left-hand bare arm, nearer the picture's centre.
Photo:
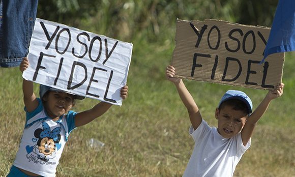
M 197 104 L 195 103 L 193 97 L 187 90 L 182 79 L 175 78 L 174 75 L 175 75 L 174 67 L 168 66 L 166 69 L 166 77 L 169 81 L 173 82 L 174 85 L 176 86 L 179 96 L 188 110 L 191 124 L 194 130 L 196 130 L 202 122 L 202 116 L 200 114 L 199 108 Z

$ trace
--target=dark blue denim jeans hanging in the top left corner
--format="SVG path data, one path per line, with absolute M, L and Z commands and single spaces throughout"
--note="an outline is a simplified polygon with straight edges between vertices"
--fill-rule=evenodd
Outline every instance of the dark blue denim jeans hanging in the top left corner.
M 0 1 L 0 67 L 16 67 L 28 53 L 38 0 Z

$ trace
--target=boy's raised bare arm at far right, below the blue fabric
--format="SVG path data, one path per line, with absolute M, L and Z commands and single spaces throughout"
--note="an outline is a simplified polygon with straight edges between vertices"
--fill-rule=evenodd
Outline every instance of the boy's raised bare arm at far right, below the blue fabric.
M 255 111 L 248 117 L 245 126 L 241 132 L 243 144 L 246 145 L 253 135 L 254 128 L 262 117 L 262 115 L 267 111 L 271 101 L 275 98 L 282 96 L 284 89 L 284 83 L 280 83 L 274 90 L 269 91 L 262 102 L 258 105 Z

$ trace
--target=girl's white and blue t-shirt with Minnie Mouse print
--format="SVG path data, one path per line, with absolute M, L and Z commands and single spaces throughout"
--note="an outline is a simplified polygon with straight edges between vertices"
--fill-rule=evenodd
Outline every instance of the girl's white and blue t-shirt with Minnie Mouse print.
M 46 115 L 39 98 L 38 102 L 34 111 L 26 111 L 25 128 L 13 165 L 42 176 L 55 176 L 68 135 L 76 128 L 76 112 L 69 111 L 54 122 Z

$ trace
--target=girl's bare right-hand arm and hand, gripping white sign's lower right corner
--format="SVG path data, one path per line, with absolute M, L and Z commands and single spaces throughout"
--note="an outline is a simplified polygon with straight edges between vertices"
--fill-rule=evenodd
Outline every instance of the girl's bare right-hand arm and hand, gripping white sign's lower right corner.
M 128 95 L 128 86 L 125 85 L 121 89 L 121 97 L 123 99 L 126 99 L 127 95 Z M 104 114 L 111 106 L 112 104 L 110 103 L 100 102 L 97 105 L 95 105 L 92 109 L 77 113 L 77 115 L 75 116 L 75 126 L 80 127 L 92 122 L 97 117 Z

